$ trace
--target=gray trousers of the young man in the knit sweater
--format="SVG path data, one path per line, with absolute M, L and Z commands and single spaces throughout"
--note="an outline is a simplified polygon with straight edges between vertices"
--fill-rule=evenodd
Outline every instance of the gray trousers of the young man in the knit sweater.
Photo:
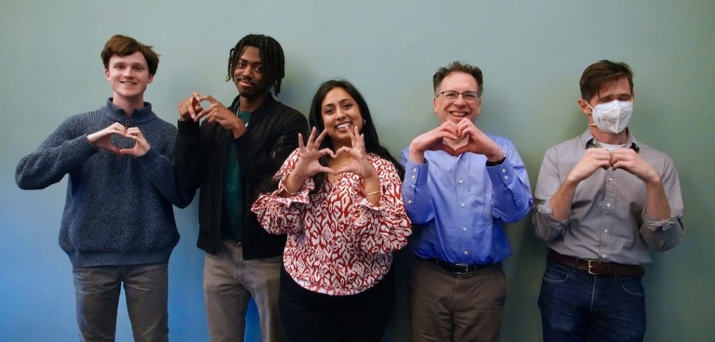
M 80 341 L 114 341 L 122 283 L 134 341 L 169 341 L 167 263 L 78 267 L 72 273 Z

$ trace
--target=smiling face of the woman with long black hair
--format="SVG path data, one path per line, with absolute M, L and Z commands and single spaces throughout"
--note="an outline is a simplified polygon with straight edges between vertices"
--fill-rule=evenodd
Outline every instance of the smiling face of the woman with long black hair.
M 320 104 L 320 116 L 334 149 L 351 146 L 348 130 L 357 126 L 358 131 L 363 131 L 363 116 L 357 102 L 340 87 L 327 92 Z

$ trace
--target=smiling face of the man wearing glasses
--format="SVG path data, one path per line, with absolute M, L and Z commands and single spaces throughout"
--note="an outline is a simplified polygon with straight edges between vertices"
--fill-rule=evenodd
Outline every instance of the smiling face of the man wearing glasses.
M 461 71 L 453 71 L 445 76 L 436 91 L 433 106 L 440 120 L 440 124 L 446 121 L 453 121 L 457 124 L 464 118 L 468 118 L 471 121 L 477 119 L 482 106 L 481 98 L 477 99 L 474 103 L 464 101 L 463 95 L 457 96 L 457 99 L 450 100 L 445 96 L 439 95 L 443 91 L 457 91 L 458 93 L 465 91 L 479 92 L 480 89 L 477 85 L 477 80 L 474 79 L 472 75 Z

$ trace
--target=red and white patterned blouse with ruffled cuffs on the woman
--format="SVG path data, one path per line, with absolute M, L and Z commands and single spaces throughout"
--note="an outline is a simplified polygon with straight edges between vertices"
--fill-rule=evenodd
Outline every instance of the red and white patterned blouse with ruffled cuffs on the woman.
M 283 180 L 298 156 L 293 151 L 276 173 L 278 190 L 263 193 L 251 210 L 269 233 L 288 234 L 283 262 L 300 286 L 332 296 L 365 291 L 385 276 L 392 251 L 403 248 L 412 233 L 398 173 L 389 161 L 368 154 L 380 176 L 380 206 L 365 198 L 355 173 L 326 181 L 315 194 L 309 193 L 315 183 L 308 178 L 299 194 L 282 198 Z

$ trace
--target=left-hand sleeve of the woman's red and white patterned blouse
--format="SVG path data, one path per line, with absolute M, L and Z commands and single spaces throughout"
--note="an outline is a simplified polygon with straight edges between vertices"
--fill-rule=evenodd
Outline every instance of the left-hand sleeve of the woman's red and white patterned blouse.
M 310 198 L 308 193 L 315 188 L 312 178 L 303 183 L 300 193 L 283 198 L 280 193 L 285 189 L 285 178 L 293 170 L 298 161 L 298 149 L 292 152 L 273 177 L 280 180 L 276 191 L 261 193 L 251 206 L 251 211 L 258 216 L 258 222 L 268 233 L 272 234 L 302 234 L 305 231 L 302 218 Z

